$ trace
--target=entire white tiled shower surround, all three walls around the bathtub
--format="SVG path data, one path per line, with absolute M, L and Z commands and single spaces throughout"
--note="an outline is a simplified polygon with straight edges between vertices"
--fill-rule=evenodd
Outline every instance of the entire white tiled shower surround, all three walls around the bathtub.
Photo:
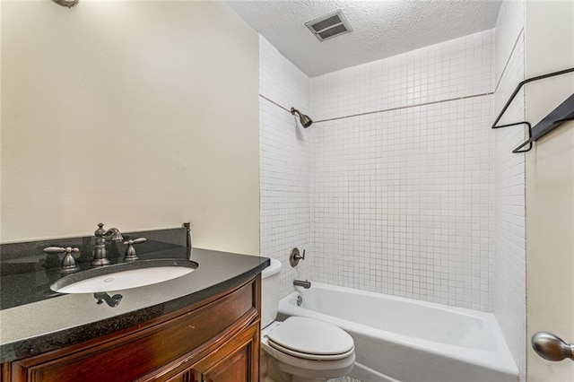
M 496 44 L 487 30 L 311 79 L 261 39 L 261 253 L 283 261 L 282 295 L 309 277 L 494 311 L 524 379 L 523 132 L 490 128 L 524 75 L 515 3 Z

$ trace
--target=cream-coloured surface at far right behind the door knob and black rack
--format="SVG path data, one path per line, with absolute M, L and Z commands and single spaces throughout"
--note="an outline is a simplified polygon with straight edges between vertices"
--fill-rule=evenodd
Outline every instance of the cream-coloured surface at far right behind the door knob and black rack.
M 574 67 L 574 2 L 526 2 L 526 78 Z M 538 122 L 574 92 L 574 74 L 526 85 L 526 120 Z M 526 154 L 526 332 L 574 343 L 574 123 Z M 529 343 L 529 341 L 528 341 Z M 528 381 L 574 380 L 574 362 L 527 347 Z

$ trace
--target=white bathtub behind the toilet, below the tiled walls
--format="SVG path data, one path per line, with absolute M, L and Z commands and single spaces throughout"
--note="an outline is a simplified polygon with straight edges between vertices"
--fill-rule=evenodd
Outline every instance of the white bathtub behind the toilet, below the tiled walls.
M 357 356 L 351 377 L 363 382 L 518 379 L 491 313 L 313 282 L 284 297 L 279 314 L 315 317 L 351 334 Z

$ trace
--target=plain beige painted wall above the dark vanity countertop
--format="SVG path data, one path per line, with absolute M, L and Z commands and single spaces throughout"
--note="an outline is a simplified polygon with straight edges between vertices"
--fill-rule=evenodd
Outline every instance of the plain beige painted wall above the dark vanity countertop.
M 191 221 L 257 255 L 257 49 L 222 2 L 2 2 L 1 241 Z

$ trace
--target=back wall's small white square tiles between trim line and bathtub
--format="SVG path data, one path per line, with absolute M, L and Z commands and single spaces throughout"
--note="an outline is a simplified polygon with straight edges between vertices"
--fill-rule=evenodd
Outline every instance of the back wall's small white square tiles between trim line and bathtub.
M 483 96 L 317 125 L 317 281 L 491 310 L 490 116 Z

